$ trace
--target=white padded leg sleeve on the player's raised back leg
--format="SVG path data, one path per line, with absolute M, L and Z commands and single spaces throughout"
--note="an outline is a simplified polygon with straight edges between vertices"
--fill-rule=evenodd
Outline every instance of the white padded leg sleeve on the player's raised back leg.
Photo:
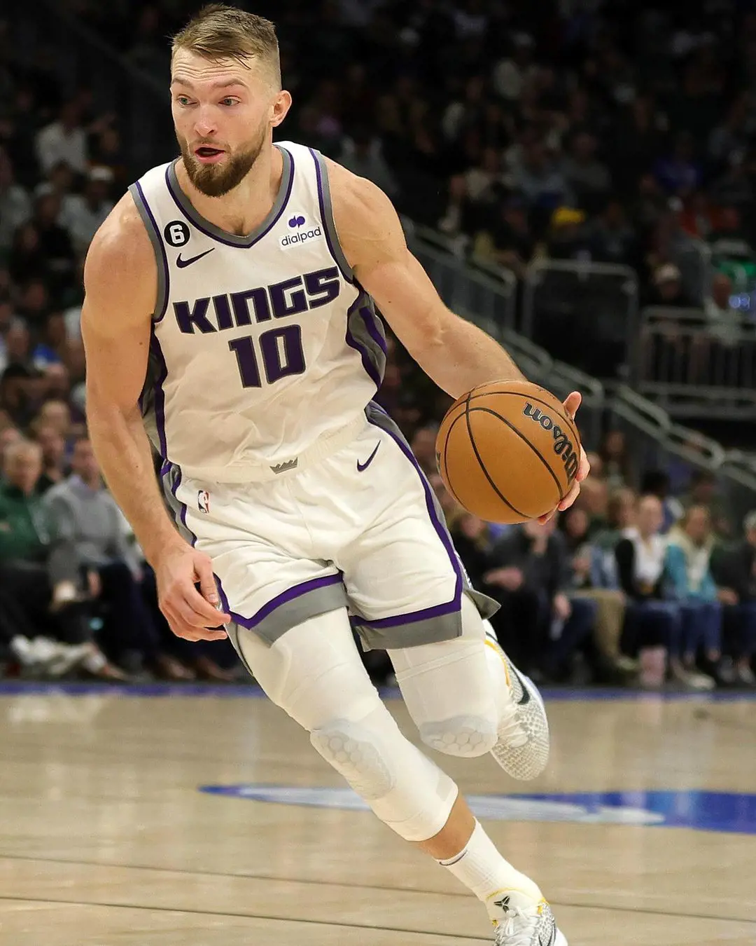
M 462 598 L 462 637 L 388 651 L 421 739 L 453 756 L 481 756 L 496 744 L 511 699 L 501 657 L 485 643 L 483 619 Z

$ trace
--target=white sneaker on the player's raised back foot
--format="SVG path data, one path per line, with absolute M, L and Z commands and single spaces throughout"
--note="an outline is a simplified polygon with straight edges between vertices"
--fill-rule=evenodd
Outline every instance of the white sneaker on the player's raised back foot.
M 486 645 L 504 661 L 511 694 L 511 702 L 499 722 L 498 742 L 490 754 L 513 779 L 535 779 L 549 759 L 549 724 L 541 693 L 530 677 L 519 673 L 499 642 L 488 633 Z

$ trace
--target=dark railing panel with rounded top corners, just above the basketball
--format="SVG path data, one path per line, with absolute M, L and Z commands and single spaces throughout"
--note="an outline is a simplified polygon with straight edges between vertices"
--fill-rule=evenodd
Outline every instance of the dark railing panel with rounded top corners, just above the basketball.
M 524 278 L 522 330 L 594 377 L 625 377 L 638 298 L 638 274 L 629 266 L 536 259 Z

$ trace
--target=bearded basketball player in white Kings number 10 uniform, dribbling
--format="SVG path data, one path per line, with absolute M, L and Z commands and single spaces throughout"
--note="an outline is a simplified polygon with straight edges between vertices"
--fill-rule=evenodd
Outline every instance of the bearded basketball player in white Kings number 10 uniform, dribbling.
M 372 811 L 486 904 L 495 943 L 566 946 L 538 885 L 404 739 L 350 625 L 387 649 L 426 745 L 541 772 L 540 694 L 487 634 L 495 604 L 468 586 L 428 482 L 371 403 L 386 349 L 371 297 L 449 394 L 522 376 L 443 306 L 377 187 L 273 145 L 291 96 L 270 23 L 214 5 L 172 52 L 181 157 L 95 236 L 82 316 L 92 440 L 163 613 L 182 638 L 228 634 Z

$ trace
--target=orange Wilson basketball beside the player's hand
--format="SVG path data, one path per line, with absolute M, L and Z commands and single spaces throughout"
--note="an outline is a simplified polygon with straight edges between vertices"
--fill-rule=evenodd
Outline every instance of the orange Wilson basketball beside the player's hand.
M 524 522 L 564 499 L 580 437 L 557 397 L 530 381 L 493 381 L 457 398 L 438 429 L 438 472 L 468 512 Z

